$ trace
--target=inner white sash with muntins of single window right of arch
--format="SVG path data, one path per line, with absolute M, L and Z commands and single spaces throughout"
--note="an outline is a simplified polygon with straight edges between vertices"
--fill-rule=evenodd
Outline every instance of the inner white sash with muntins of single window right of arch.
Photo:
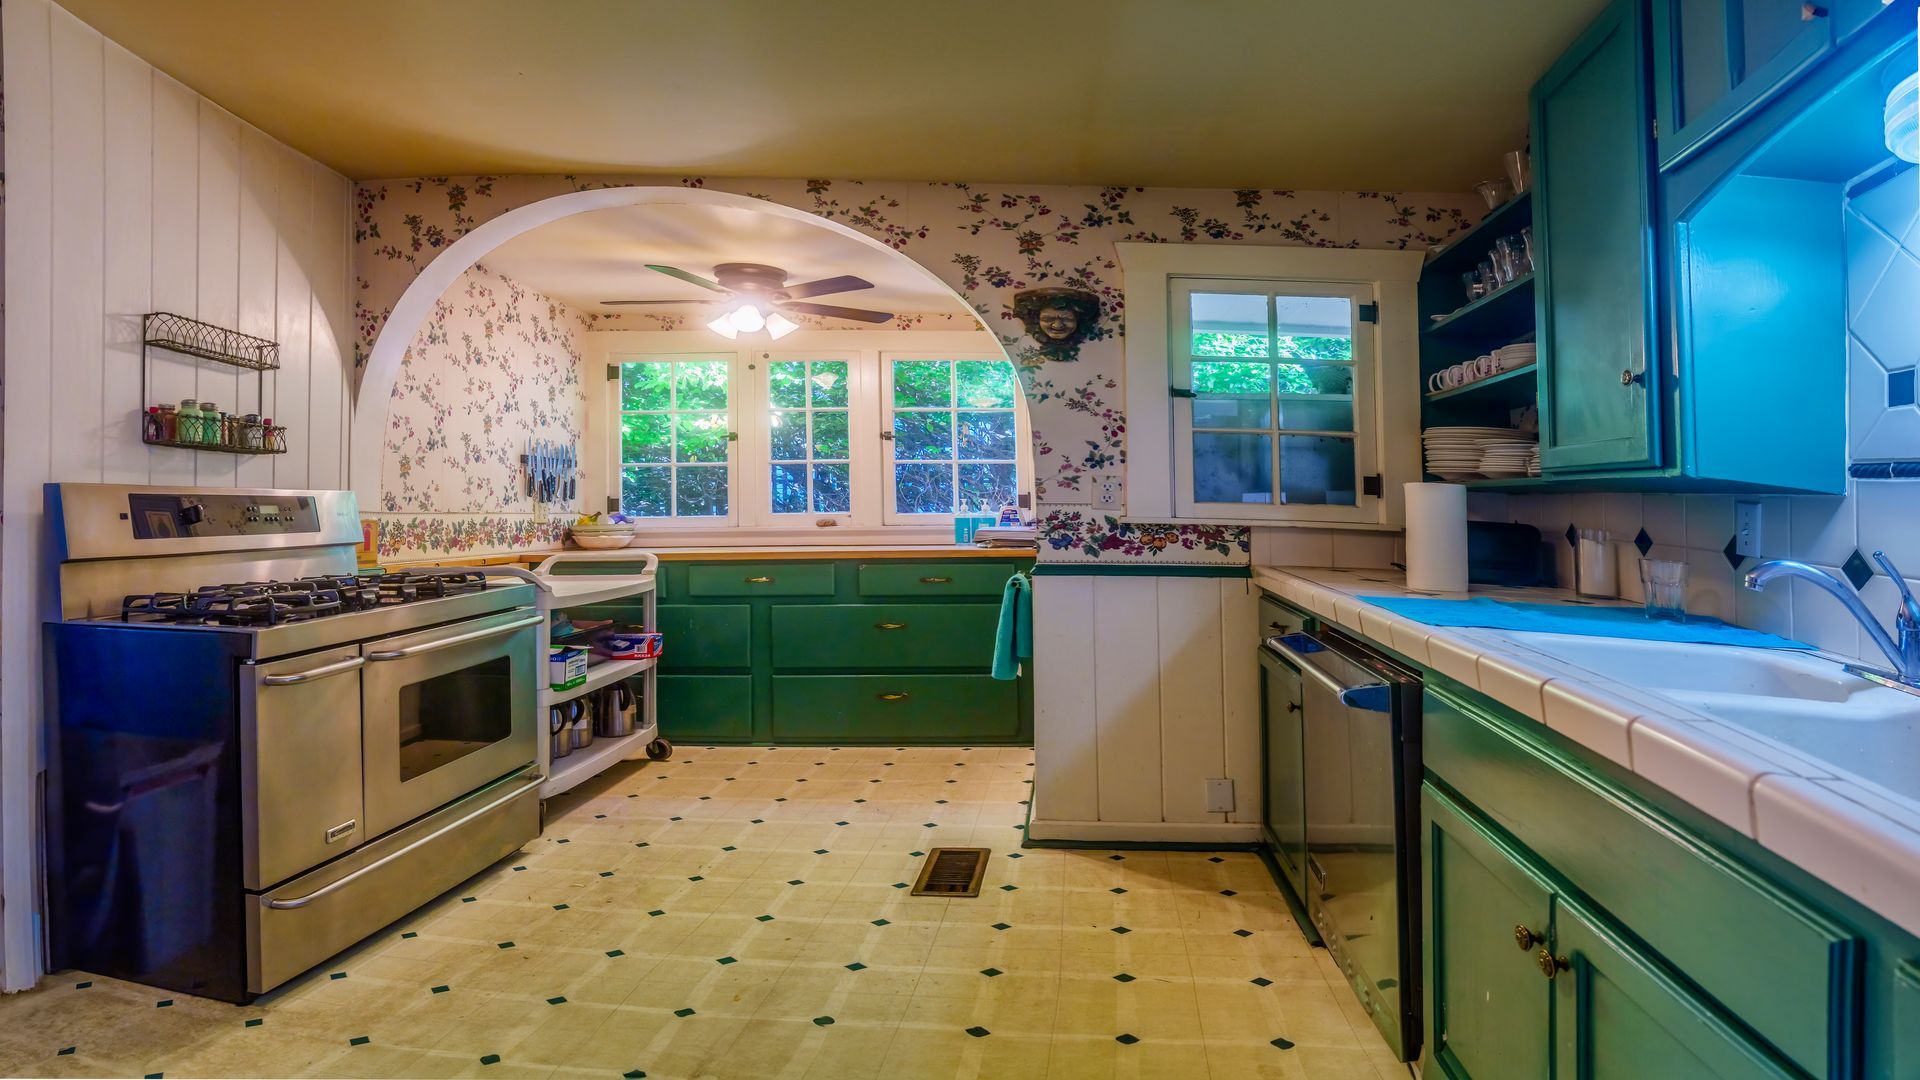
M 1242 296 L 1331 296 L 1348 302 L 1348 327 L 1354 342 L 1354 505 L 1329 505 L 1329 503 L 1219 503 L 1219 502 L 1198 502 L 1192 488 L 1192 465 L 1194 465 L 1194 398 L 1181 398 L 1173 405 L 1173 475 L 1181 479 L 1173 486 L 1173 511 L 1183 519 L 1200 517 L 1288 517 L 1294 521 L 1323 521 L 1323 523 L 1377 523 L 1379 507 L 1373 505 L 1377 496 L 1367 496 L 1361 492 L 1363 477 L 1377 475 L 1379 461 L 1379 436 L 1373 427 L 1373 394 L 1375 380 L 1379 379 L 1377 363 L 1377 334 L 1373 332 L 1373 323 L 1361 319 L 1361 306 L 1379 306 L 1373 292 L 1373 282 L 1332 282 L 1332 281 L 1273 281 L 1273 279 L 1244 279 L 1244 277 L 1173 277 L 1167 279 L 1167 369 L 1171 377 L 1171 386 L 1192 388 L 1192 361 L 1208 359 L 1192 356 L 1192 296 L 1194 294 L 1225 294 L 1235 292 Z M 1273 323 L 1273 302 L 1267 302 L 1267 340 L 1277 342 L 1277 327 Z M 1269 346 L 1271 350 L 1271 346 Z M 1235 361 L 1240 357 L 1221 356 L 1221 361 Z M 1256 359 L 1256 357 L 1246 357 Z M 1281 357 L 1265 357 L 1269 363 L 1283 363 Z M 1273 423 L 1283 421 L 1279 400 L 1273 405 Z M 1221 430 L 1221 429 L 1204 429 Z M 1246 434 L 1269 434 L 1269 469 L 1275 488 L 1281 486 L 1281 440 L 1286 434 L 1342 434 L 1342 432 L 1292 432 L 1275 429 L 1246 429 Z

